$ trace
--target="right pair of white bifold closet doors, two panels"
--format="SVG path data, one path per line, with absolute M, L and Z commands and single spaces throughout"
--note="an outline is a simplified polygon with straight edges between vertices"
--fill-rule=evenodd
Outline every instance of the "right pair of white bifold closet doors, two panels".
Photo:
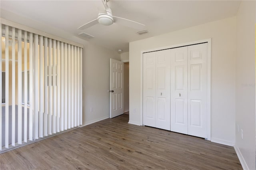
M 171 49 L 171 131 L 207 138 L 207 43 Z

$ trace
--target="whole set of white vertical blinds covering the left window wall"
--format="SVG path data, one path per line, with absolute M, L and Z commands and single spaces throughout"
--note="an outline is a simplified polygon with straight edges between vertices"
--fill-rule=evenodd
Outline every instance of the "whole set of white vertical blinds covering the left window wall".
M 0 34 L 0 150 L 82 125 L 82 47 L 4 24 Z

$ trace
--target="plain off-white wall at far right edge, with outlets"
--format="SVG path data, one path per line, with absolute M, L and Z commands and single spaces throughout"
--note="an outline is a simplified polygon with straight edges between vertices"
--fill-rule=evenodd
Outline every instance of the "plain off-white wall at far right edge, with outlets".
M 255 165 L 255 1 L 242 1 L 236 16 L 236 144 L 244 169 Z M 237 131 L 239 125 L 239 132 Z M 243 139 L 241 138 L 243 130 Z M 246 167 L 247 165 L 247 167 Z

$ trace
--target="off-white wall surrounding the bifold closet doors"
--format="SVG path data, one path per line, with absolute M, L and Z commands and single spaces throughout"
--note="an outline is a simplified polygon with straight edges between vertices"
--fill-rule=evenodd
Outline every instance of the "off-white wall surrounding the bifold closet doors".
M 130 42 L 130 120 L 140 124 L 140 52 L 179 43 L 212 38 L 212 141 L 235 142 L 235 45 L 236 18 L 227 18 L 160 36 Z M 134 109 L 136 111 L 134 112 Z

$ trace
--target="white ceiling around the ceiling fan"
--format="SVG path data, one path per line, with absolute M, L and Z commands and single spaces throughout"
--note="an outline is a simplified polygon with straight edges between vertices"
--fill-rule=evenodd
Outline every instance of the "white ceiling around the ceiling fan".
M 114 51 L 122 49 L 123 52 L 129 51 L 129 42 L 132 41 L 235 16 L 239 5 L 240 1 L 237 0 L 110 0 L 108 6 L 114 16 L 146 25 L 149 33 L 138 35 L 136 32 L 140 30 L 118 24 L 96 24 L 85 30 L 78 30 L 78 27 L 96 19 L 99 11 L 104 11 L 101 0 L 0 1 L 1 11 L 3 9 L 36 20 L 77 37 L 79 33 L 85 32 L 95 37 L 86 39 L 89 42 Z M 8 19 L 6 14 L 1 12 L 1 17 Z

